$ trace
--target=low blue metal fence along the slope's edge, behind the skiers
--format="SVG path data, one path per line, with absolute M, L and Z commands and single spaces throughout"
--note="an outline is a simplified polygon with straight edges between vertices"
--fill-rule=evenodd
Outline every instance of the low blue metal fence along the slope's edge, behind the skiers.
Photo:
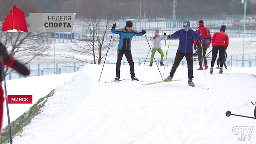
M 230 58 L 227 60 L 227 66 L 235 66 L 235 67 L 241 67 L 242 63 L 244 61 L 245 67 L 256 67 L 256 53 L 251 54 L 244 54 L 244 60 L 242 60 L 242 54 L 233 54 L 228 56 Z M 211 57 L 209 57 L 211 58 Z M 211 62 L 211 59 L 207 60 L 207 62 Z M 156 59 L 156 63 L 160 65 L 161 59 Z M 139 66 L 147 66 L 150 63 L 150 58 L 145 59 L 134 59 L 134 65 Z M 171 66 L 174 63 L 174 58 L 169 58 L 168 61 L 163 60 L 164 64 Z M 91 64 L 93 61 L 91 61 Z M 101 64 L 103 64 L 104 61 L 101 61 Z M 154 62 L 155 63 L 155 62 Z M 30 63 L 28 65 L 28 68 L 30 69 L 30 75 L 31 76 L 42 76 L 42 75 L 50 75 L 50 74 L 62 74 L 62 73 L 73 73 L 78 71 L 80 68 L 82 68 L 84 65 L 88 63 L 82 62 L 82 61 L 76 61 L 76 62 L 57 62 L 54 68 L 53 62 L 42 62 L 42 63 Z M 106 60 L 105 64 L 116 64 L 116 60 Z M 128 65 L 128 62 L 126 60 L 122 61 L 123 65 Z M 198 61 L 194 61 L 194 65 L 198 64 Z M 184 58 L 181 60 L 180 65 L 187 65 L 187 60 Z M 55 72 L 55 73 L 54 73 Z M 9 75 L 6 76 L 7 80 L 11 79 L 17 79 L 17 78 L 23 78 L 24 76 L 20 75 L 17 72 L 11 72 Z

